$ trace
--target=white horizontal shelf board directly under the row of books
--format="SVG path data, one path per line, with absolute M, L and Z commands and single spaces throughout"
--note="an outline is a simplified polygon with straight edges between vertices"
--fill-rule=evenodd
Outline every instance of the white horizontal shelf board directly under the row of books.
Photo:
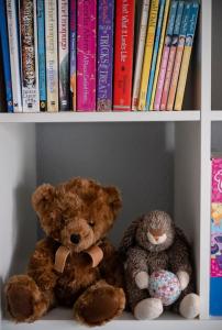
M 0 123 L 144 121 L 200 121 L 200 111 L 0 113 Z

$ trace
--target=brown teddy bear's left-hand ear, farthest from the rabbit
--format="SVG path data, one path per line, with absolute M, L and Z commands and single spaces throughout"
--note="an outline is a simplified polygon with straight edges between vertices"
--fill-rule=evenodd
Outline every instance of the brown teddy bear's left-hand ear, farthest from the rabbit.
M 32 206 L 37 213 L 41 213 L 45 206 L 51 204 L 55 197 L 55 187 L 43 184 L 32 195 Z

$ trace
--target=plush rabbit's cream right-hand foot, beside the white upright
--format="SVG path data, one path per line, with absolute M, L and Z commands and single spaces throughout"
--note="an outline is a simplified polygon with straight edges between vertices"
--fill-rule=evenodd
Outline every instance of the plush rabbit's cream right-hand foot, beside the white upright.
M 196 294 L 185 296 L 179 305 L 179 312 L 186 319 L 195 319 L 200 314 L 200 297 Z

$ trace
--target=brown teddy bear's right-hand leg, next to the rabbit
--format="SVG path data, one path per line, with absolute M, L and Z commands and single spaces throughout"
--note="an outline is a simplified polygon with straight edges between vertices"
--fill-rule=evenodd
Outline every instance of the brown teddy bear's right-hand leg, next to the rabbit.
M 120 315 L 124 307 L 123 289 L 99 280 L 77 299 L 74 315 L 82 323 L 100 326 Z

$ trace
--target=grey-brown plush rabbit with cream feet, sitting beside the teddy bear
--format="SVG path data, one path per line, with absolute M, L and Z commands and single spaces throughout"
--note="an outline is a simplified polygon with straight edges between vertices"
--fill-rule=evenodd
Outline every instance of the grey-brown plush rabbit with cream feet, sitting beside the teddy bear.
M 125 290 L 127 304 L 136 319 L 155 319 L 164 309 L 173 309 L 185 318 L 199 316 L 200 299 L 193 293 L 195 278 L 189 243 L 180 229 L 164 211 L 152 211 L 132 222 L 126 229 L 120 252 L 125 264 Z M 167 294 L 165 273 L 170 283 L 179 285 L 179 295 L 170 304 L 163 302 L 163 293 L 157 297 L 156 288 Z M 154 276 L 160 276 L 156 286 Z M 175 278 L 173 278 L 173 277 Z M 164 283 L 165 282 L 165 283 Z M 149 285 L 153 285 L 153 294 Z M 170 306 L 167 306 L 170 305 Z

